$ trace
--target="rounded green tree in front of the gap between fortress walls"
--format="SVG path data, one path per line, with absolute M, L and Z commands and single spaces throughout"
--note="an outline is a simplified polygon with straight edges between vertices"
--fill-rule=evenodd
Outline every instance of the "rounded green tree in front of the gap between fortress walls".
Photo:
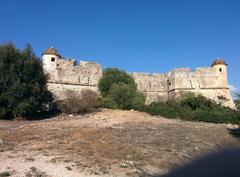
M 108 68 L 99 82 L 102 98 L 100 107 L 112 109 L 139 109 L 145 95 L 137 91 L 134 79 L 125 71 Z

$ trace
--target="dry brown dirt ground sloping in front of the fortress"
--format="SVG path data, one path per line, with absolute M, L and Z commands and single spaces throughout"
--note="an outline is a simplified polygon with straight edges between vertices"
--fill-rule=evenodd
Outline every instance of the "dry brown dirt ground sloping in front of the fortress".
M 223 147 L 231 125 L 101 110 L 0 121 L 0 177 L 154 176 Z

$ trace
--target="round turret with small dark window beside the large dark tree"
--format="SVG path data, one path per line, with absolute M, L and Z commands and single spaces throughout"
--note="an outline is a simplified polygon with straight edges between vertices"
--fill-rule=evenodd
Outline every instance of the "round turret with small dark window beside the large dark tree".
M 42 58 L 44 69 L 49 70 L 56 67 L 57 60 L 61 58 L 61 55 L 55 48 L 50 47 L 43 52 Z

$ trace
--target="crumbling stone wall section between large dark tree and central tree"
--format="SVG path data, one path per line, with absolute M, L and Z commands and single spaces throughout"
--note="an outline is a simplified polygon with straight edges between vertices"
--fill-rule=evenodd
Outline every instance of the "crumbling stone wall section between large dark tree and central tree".
M 97 84 L 102 77 L 102 68 L 94 62 L 62 59 L 53 56 L 43 57 L 44 71 L 48 74 L 48 89 L 54 93 L 56 99 L 64 99 L 66 90 L 81 93 L 84 89 L 98 92 Z M 49 64 L 50 63 L 50 64 Z

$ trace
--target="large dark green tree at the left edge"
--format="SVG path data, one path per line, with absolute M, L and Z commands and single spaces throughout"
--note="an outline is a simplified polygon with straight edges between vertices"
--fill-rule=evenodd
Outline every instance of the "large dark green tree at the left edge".
M 23 50 L 12 43 L 0 45 L 0 118 L 29 116 L 48 109 L 52 94 L 46 83 L 42 62 L 29 44 Z

